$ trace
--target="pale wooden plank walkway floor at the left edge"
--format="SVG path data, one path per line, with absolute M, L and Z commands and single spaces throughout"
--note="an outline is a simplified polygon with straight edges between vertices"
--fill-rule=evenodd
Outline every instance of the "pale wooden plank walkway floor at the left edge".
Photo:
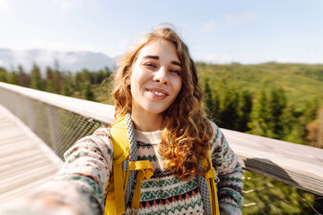
M 52 179 L 63 161 L 0 105 L 0 202 Z

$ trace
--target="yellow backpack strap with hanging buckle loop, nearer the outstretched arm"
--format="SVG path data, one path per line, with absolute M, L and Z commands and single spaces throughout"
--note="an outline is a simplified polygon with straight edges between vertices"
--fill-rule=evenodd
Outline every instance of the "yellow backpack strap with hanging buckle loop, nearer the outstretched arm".
M 138 174 L 131 206 L 134 210 L 139 208 L 142 181 L 153 176 L 153 166 L 149 160 L 136 161 L 135 129 L 130 114 L 119 117 L 111 125 L 110 135 L 114 149 L 112 165 L 115 201 L 108 202 L 107 198 L 105 211 L 109 214 L 110 208 L 113 207 L 113 214 L 123 214 L 126 212 L 127 202 L 131 201 L 136 172 Z

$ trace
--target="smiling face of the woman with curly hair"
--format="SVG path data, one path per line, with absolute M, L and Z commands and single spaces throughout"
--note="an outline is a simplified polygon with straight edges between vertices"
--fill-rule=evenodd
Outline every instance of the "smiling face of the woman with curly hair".
M 179 95 L 181 64 L 175 46 L 157 39 L 143 47 L 130 78 L 132 111 L 161 114 Z

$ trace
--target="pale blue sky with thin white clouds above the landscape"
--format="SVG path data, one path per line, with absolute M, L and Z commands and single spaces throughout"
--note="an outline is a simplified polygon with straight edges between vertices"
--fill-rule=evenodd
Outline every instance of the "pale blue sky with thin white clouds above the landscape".
M 196 61 L 323 64 L 323 0 L 0 0 L 0 48 L 122 56 L 171 23 Z

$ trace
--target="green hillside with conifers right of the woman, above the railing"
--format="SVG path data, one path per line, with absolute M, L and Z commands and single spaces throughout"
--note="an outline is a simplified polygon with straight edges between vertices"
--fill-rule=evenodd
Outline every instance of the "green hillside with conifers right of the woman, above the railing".
M 199 63 L 197 68 L 206 111 L 220 127 L 323 148 L 323 65 Z

